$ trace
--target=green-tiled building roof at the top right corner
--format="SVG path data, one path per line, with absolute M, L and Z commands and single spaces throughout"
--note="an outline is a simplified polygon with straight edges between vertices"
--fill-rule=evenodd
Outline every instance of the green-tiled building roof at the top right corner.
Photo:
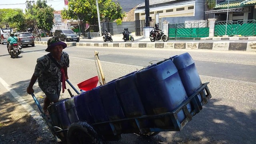
M 238 8 L 243 6 L 250 6 L 256 4 L 256 0 L 229 0 L 229 7 L 230 8 Z M 215 8 L 227 8 L 228 7 L 228 0 L 224 2 L 220 2 L 215 6 Z

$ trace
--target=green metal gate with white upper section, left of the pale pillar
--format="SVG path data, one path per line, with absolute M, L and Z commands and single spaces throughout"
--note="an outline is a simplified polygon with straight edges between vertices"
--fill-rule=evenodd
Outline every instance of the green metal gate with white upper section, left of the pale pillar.
M 208 22 L 169 24 L 169 38 L 203 38 L 209 36 Z

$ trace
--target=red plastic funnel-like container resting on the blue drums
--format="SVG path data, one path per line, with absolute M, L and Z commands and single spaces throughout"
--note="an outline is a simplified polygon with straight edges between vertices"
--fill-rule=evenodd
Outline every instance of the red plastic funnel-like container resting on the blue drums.
M 77 84 L 77 86 L 81 90 L 88 91 L 88 90 L 95 88 L 98 84 L 98 81 L 99 81 L 98 76 L 94 76 L 92 78 L 89 78 L 88 80 L 80 82 L 79 84 Z

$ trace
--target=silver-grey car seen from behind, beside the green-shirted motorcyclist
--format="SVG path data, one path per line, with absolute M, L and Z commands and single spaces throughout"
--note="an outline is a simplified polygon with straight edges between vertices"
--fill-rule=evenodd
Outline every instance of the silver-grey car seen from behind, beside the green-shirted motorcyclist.
M 18 33 L 18 37 L 20 37 L 21 46 L 35 46 L 34 36 L 32 36 L 29 32 L 20 32 Z

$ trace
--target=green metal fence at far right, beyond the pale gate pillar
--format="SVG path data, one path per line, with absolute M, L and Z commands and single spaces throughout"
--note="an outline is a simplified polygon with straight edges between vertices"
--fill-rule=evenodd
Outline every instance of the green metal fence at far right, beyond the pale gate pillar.
M 219 21 L 215 24 L 215 36 L 256 36 L 255 20 Z

